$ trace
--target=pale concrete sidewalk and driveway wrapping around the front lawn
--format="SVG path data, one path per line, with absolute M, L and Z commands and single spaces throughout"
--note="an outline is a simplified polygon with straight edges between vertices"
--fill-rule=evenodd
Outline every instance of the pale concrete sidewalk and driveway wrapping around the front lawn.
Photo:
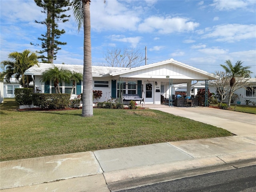
M 239 113 L 239 118 L 212 108 L 149 107 L 199 121 L 210 118 L 208 124 L 220 123 L 237 136 L 3 161 L 1 191 L 109 192 L 256 165 L 255 115 Z

